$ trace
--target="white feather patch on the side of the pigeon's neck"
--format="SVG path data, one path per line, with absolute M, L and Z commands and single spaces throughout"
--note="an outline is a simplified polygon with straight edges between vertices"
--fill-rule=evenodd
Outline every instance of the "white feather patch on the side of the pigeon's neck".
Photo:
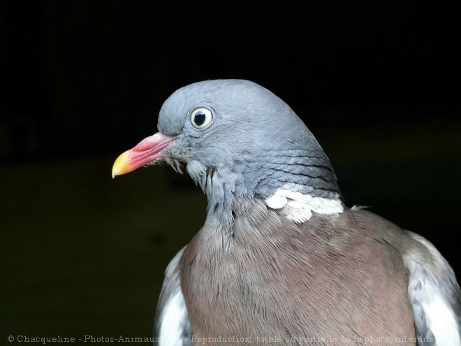
M 325 199 L 310 194 L 301 194 L 284 186 L 275 190 L 275 194 L 265 199 L 269 208 L 280 210 L 293 222 L 305 222 L 312 217 L 312 212 L 323 215 L 337 215 L 344 211 L 339 199 Z

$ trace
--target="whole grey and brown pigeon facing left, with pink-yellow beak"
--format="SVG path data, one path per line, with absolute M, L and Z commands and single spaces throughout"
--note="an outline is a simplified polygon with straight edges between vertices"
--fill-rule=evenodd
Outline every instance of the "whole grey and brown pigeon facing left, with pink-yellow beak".
M 348 208 L 293 110 L 248 80 L 206 80 L 163 103 L 158 132 L 112 178 L 166 163 L 207 196 L 170 262 L 159 345 L 461 345 L 461 291 L 428 240 Z

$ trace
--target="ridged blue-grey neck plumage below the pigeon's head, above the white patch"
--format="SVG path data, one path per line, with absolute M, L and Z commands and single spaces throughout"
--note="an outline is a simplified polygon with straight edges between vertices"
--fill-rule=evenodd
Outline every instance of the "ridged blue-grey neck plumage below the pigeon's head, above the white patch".
M 243 154 L 232 165 L 212 168 L 190 161 L 187 171 L 207 195 L 207 223 L 224 233 L 231 232 L 236 210 L 247 208 L 255 198 L 269 201 L 281 190 L 342 205 L 335 174 L 321 149 Z

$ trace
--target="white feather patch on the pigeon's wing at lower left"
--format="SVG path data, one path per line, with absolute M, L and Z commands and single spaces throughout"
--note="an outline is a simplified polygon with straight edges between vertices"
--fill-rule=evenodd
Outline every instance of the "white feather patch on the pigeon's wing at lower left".
M 165 305 L 161 314 L 160 346 L 182 346 L 184 321 L 187 315 L 186 303 L 181 289 L 177 289 Z

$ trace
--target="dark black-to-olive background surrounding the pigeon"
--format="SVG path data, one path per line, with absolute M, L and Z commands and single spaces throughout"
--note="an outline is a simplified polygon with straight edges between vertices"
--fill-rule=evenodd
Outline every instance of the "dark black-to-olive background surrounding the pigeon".
M 1 1 L 0 340 L 152 335 L 205 197 L 168 167 L 110 169 L 198 80 L 284 99 L 346 203 L 422 234 L 459 277 L 455 3 Z

